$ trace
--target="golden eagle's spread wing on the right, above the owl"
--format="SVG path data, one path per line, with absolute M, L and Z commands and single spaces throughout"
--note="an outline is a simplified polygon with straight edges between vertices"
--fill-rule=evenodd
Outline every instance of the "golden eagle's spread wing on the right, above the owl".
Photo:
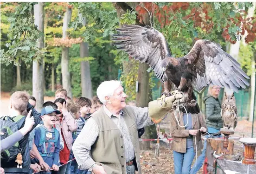
M 210 83 L 231 88 L 235 92 L 240 87 L 249 86 L 246 81 L 249 77 L 240 68 L 240 64 L 215 42 L 198 40 L 182 58 L 187 61 L 188 71 L 194 75 L 193 81 L 199 91 Z

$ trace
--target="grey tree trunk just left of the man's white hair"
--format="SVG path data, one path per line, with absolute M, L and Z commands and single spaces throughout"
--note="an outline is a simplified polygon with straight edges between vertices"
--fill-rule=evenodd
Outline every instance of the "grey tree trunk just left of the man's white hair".
M 81 17 L 81 15 L 80 15 Z M 86 18 L 83 19 L 82 24 L 87 24 Z M 87 42 L 80 43 L 80 57 L 89 56 L 89 47 Z M 82 96 L 92 99 L 92 80 L 90 72 L 89 61 L 81 61 L 81 89 Z

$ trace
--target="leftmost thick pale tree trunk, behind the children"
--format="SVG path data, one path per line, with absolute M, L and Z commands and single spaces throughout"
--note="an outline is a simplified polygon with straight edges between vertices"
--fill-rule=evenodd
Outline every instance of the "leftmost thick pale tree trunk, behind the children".
M 43 2 L 34 5 L 35 25 L 40 31 L 44 31 Z M 38 40 L 39 48 L 44 47 L 44 36 Z M 43 106 L 43 57 L 33 62 L 33 96 L 36 98 L 36 109 L 40 111 Z

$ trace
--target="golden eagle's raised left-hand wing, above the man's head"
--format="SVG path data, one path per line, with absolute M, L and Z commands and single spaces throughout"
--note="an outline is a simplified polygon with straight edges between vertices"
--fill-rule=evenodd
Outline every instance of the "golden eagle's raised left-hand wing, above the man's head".
M 146 62 L 155 72 L 158 79 L 163 82 L 164 72 L 161 60 L 171 56 L 162 33 L 152 27 L 140 27 L 138 25 L 124 25 L 117 29 L 119 34 L 112 35 L 114 45 L 118 50 L 124 50 L 127 54 L 140 62 Z

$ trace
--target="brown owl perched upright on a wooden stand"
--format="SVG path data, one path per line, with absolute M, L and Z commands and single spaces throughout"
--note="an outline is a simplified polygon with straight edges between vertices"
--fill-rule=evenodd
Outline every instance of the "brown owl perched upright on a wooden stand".
M 227 95 L 225 92 L 221 106 L 221 117 L 223 119 L 224 126 L 223 128 L 234 131 L 238 121 L 237 114 L 238 109 L 236 109 L 234 93 L 232 95 Z

